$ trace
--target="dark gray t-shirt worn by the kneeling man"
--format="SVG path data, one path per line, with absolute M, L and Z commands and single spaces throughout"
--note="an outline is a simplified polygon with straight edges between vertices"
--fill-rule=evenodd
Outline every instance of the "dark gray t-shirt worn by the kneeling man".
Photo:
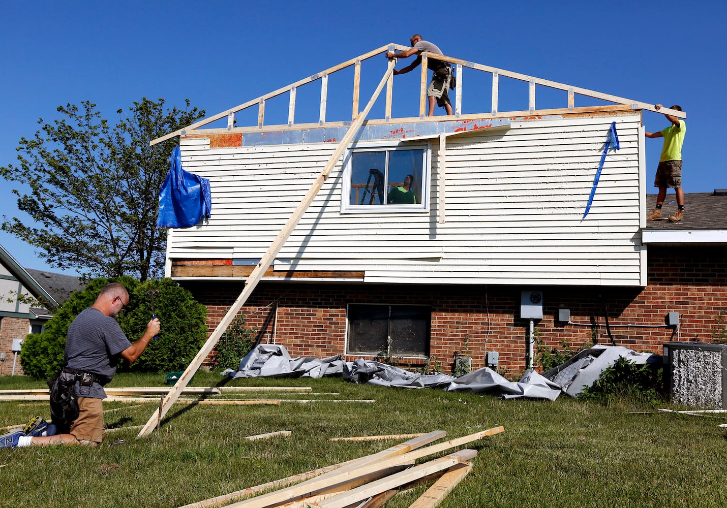
M 65 360 L 69 368 L 97 374 L 106 384 L 116 374 L 119 353 L 131 345 L 114 318 L 89 307 L 77 315 L 68 327 Z M 76 395 L 106 398 L 103 387 L 97 383 L 93 384 L 90 391 L 84 387 L 82 392 L 79 392 L 79 384 L 76 383 Z

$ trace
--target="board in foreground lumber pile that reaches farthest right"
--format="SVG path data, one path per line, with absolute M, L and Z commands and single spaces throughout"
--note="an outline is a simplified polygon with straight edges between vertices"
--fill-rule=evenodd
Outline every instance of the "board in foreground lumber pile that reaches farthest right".
M 466 435 L 462 438 L 444 441 L 443 443 L 430 445 L 425 448 L 418 448 L 417 450 L 412 450 L 404 453 L 403 455 L 394 456 L 390 459 L 377 460 L 375 463 L 356 464 L 354 466 L 342 467 L 340 469 L 335 469 L 334 471 L 329 472 L 326 475 L 307 480 L 303 483 L 298 483 L 297 485 L 292 485 L 291 487 L 283 488 L 279 491 L 263 494 L 262 496 L 257 496 L 252 499 L 246 499 L 245 501 L 240 501 L 230 506 L 236 508 L 264 508 L 269 507 L 273 504 L 285 503 L 287 501 L 297 499 L 300 496 L 310 496 L 311 493 L 326 486 L 334 485 L 336 483 L 344 483 L 352 478 L 367 475 L 370 472 L 376 471 L 377 469 L 406 464 L 410 461 L 415 461 L 417 459 L 421 459 L 422 457 L 432 455 L 433 453 L 447 451 L 451 448 L 456 448 L 457 446 L 472 443 L 473 441 L 480 440 L 491 435 L 499 434 L 500 432 L 504 431 L 504 427 L 495 427 L 493 429 L 475 432 L 474 434 Z M 353 503 L 353 501 L 351 502 Z

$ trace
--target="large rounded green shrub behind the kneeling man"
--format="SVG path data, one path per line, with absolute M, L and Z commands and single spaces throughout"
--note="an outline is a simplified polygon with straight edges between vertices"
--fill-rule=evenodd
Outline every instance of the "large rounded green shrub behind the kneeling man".
M 93 305 L 107 283 L 119 282 L 129 291 L 129 305 L 119 313 L 121 330 L 134 342 L 144 334 L 151 319 L 150 290 L 154 295 L 156 317 L 161 321 L 159 339 L 150 342 L 134 363 L 119 360 L 119 372 L 169 372 L 186 368 L 206 340 L 206 308 L 196 302 L 189 291 L 172 279 L 145 281 L 123 275 L 119 278 L 97 278 L 84 291 L 77 291 L 61 305 L 45 325 L 41 334 L 31 334 L 23 342 L 20 365 L 33 379 L 49 379 L 63 367 L 63 353 L 68 326 L 76 315 Z

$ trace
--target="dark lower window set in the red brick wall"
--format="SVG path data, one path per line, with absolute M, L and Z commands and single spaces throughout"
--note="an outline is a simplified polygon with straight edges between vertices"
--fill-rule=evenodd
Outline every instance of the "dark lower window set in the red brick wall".
M 348 305 L 348 354 L 429 355 L 431 307 Z

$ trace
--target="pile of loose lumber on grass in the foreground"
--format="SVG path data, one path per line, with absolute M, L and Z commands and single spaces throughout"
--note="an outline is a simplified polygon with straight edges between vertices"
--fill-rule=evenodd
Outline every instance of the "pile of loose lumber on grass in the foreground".
M 446 432 L 437 430 L 360 459 L 187 504 L 181 508 L 373 508 L 380 507 L 399 491 L 422 482 L 433 485 L 411 507 L 435 507 L 470 472 L 470 460 L 477 456 L 477 451 L 465 449 L 420 464 L 416 461 L 504 431 L 504 427 L 494 427 L 430 445 L 446 435 Z M 303 481 L 291 485 L 300 480 Z M 278 487 L 281 488 L 228 504 L 236 499 Z

